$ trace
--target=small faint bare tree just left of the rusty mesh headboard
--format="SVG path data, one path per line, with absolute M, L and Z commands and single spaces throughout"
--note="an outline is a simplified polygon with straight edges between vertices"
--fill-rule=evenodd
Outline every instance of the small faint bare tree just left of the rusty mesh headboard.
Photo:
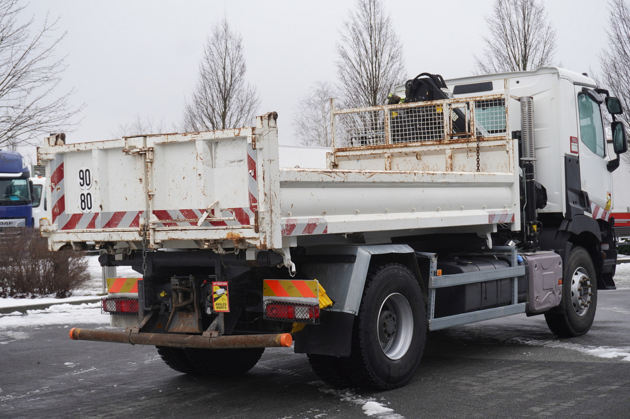
M 331 146 L 330 98 L 333 96 L 333 85 L 327 81 L 318 81 L 308 95 L 300 99 L 293 122 L 299 144 Z

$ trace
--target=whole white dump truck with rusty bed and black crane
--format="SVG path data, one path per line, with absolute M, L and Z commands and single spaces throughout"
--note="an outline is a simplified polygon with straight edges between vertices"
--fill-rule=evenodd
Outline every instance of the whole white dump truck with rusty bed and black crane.
M 103 265 L 142 273 L 137 304 L 103 301 L 137 324 L 71 337 L 155 345 L 173 369 L 216 375 L 293 346 L 326 381 L 391 389 L 430 330 L 526 313 L 587 333 L 597 292 L 615 289 L 619 101 L 557 68 L 421 74 L 394 93 L 333 106 L 325 169 L 279 166 L 273 112 L 211 132 L 51 135 L 50 249 L 93 241 Z

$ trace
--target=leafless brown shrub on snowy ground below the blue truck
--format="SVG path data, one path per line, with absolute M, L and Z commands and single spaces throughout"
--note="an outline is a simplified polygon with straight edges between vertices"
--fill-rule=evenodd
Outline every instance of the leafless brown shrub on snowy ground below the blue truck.
M 5 229 L 0 236 L 0 297 L 62 298 L 88 280 L 84 252 L 49 251 L 37 229 Z

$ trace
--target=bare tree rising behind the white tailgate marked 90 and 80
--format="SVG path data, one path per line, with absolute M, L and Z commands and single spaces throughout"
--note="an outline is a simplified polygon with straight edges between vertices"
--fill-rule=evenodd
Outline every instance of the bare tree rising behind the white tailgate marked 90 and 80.
M 253 123 L 260 106 L 256 88 L 245 83 L 243 37 L 227 18 L 212 27 L 199 64 L 197 87 L 186 103 L 186 130 L 217 130 Z

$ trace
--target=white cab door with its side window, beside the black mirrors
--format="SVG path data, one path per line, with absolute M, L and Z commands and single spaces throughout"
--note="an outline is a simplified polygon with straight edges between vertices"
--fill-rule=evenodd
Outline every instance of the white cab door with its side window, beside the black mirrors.
M 588 193 L 590 212 L 595 219 L 607 219 L 610 210 L 612 175 L 606 164 L 606 139 L 604 121 L 600 110 L 601 100 L 594 91 L 576 86 L 578 130 L 580 135 L 581 190 Z

